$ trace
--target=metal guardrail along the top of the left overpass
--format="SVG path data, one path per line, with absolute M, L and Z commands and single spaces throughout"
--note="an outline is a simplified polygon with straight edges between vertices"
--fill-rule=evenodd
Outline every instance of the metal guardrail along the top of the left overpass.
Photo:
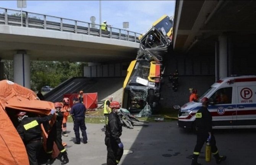
M 76 21 L 73 19 L 48 16 L 37 13 L 0 8 L 0 24 L 10 26 L 22 26 L 37 29 L 57 30 L 76 34 L 93 35 L 98 37 L 126 40 L 129 42 L 140 42 L 139 33 L 108 26 L 108 31 L 101 30 L 101 25 L 89 22 Z

